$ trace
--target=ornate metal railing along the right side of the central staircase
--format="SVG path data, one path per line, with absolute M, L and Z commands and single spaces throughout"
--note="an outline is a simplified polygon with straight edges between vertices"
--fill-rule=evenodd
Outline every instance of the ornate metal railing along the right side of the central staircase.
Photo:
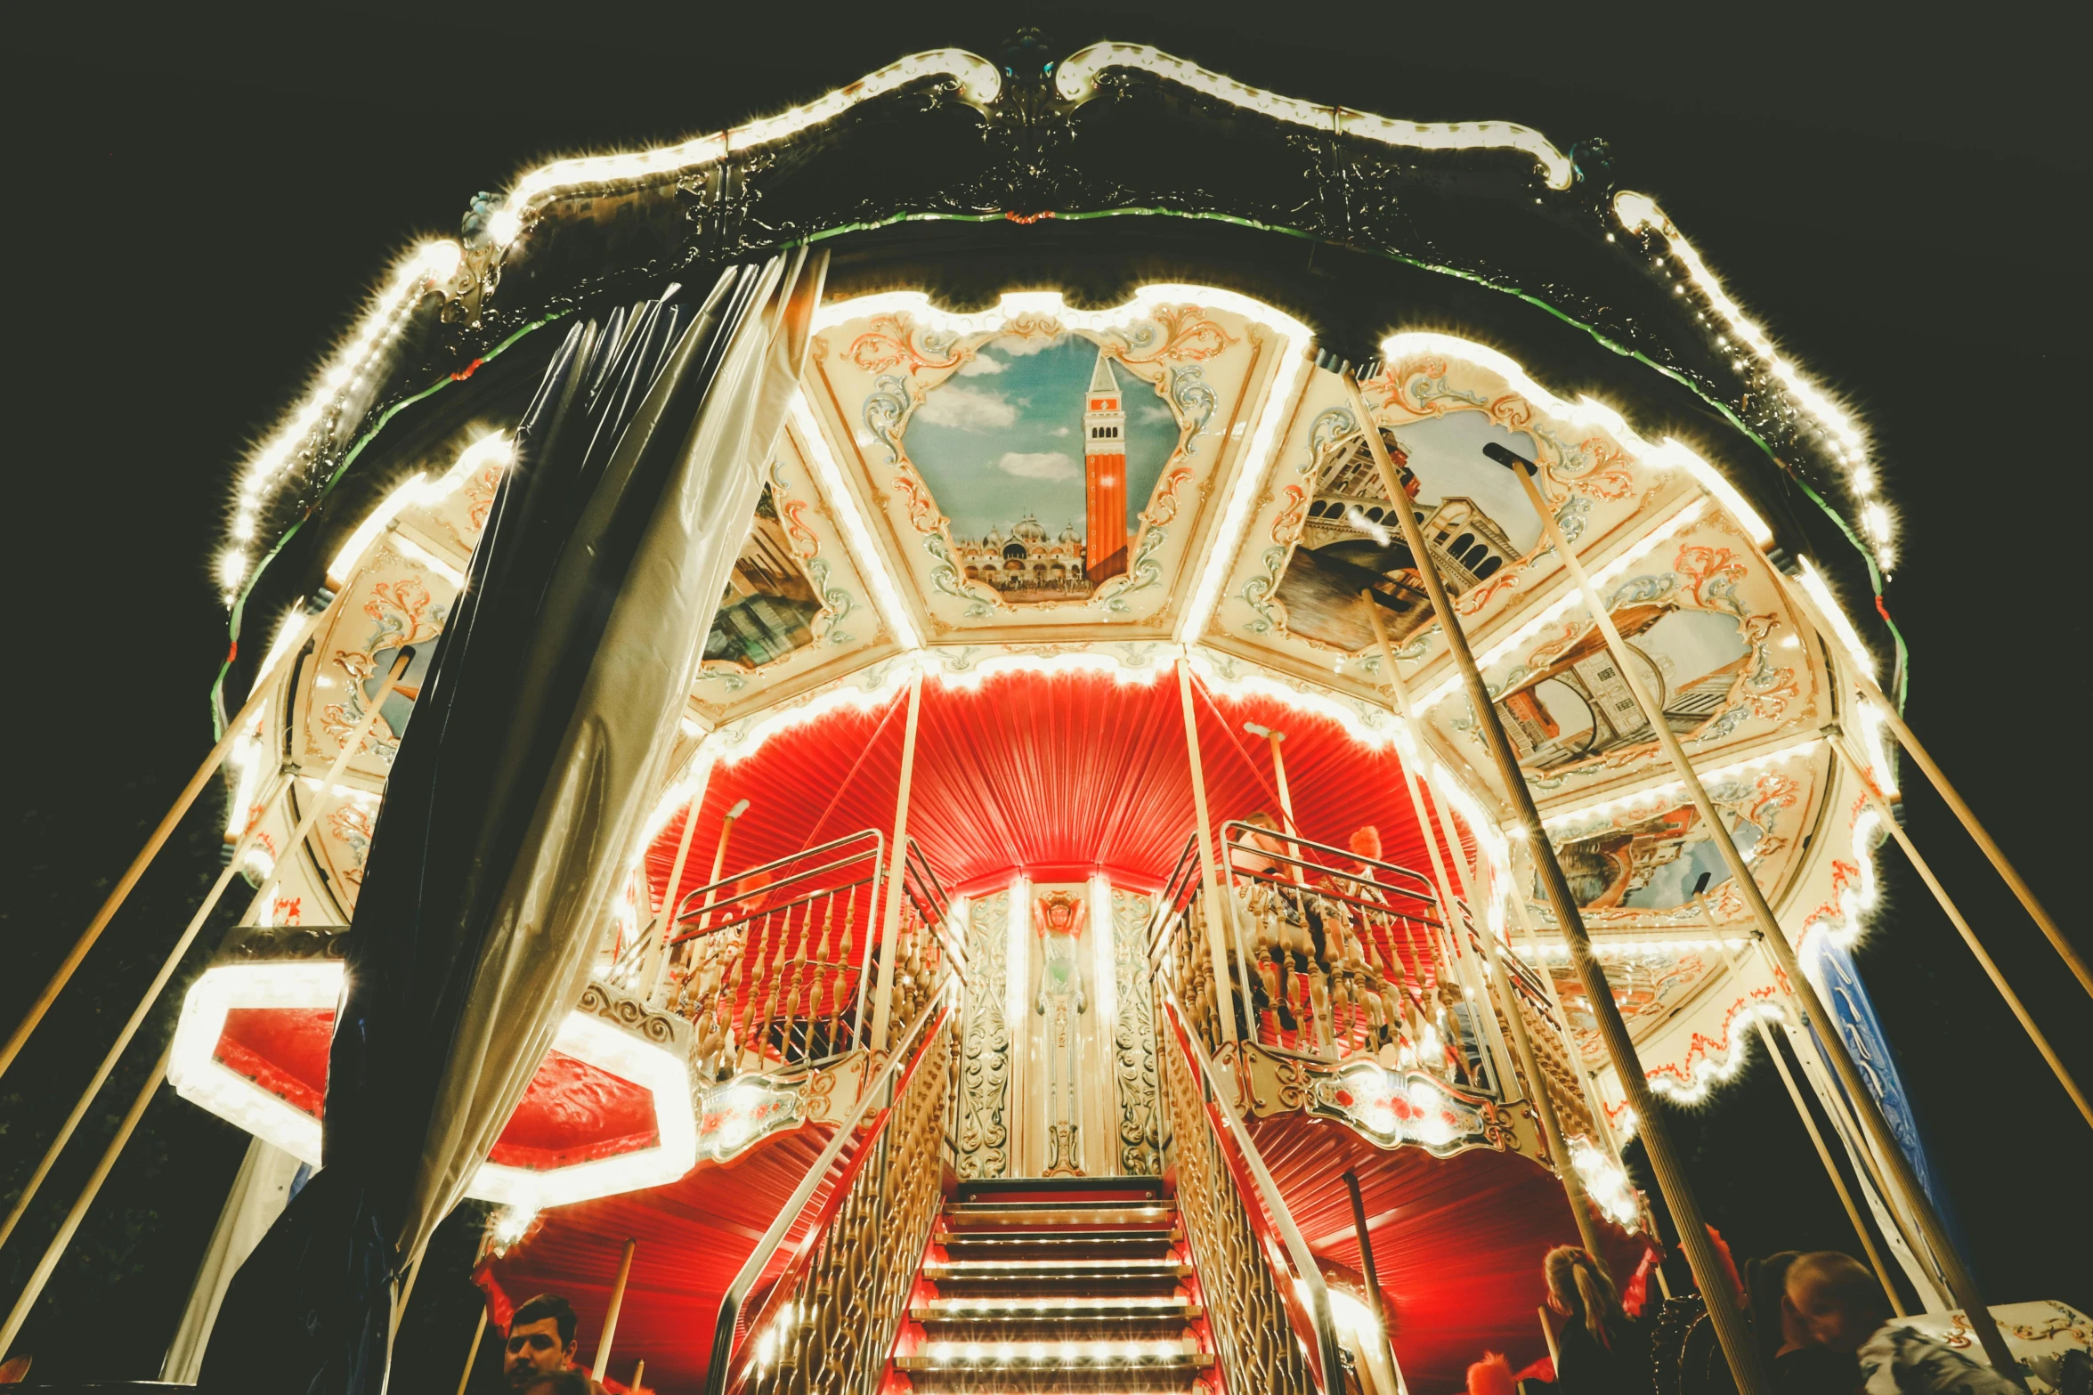
M 1337 1395 L 1344 1357 L 1323 1270 L 1176 998 L 1157 987 L 1157 1000 L 1178 1213 L 1226 1389 Z

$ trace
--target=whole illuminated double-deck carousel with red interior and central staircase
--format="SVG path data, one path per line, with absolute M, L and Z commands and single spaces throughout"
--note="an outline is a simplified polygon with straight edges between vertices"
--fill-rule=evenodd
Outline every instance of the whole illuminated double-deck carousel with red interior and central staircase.
M 165 1081 L 253 1136 L 205 1389 L 381 1391 L 479 1203 L 444 1389 L 557 1293 L 609 1391 L 1436 1395 L 1547 1380 L 1582 1244 L 1758 1395 L 1660 1100 L 1766 1052 L 2049 1389 L 1850 958 L 1911 857 L 2093 1123 L 1898 820 L 2093 991 L 1898 715 L 1886 483 L 1601 142 L 1151 48 L 475 195 L 237 466 L 218 747 L 0 1069 L 213 782 L 226 870 L 6 1234 L 247 912 L 0 1355 Z

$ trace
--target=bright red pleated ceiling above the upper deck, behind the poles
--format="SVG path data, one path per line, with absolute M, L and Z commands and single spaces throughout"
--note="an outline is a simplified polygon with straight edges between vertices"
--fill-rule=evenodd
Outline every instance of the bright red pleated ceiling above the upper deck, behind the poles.
M 705 885 L 720 820 L 739 799 L 726 874 L 858 828 L 892 834 L 906 694 L 879 711 L 833 711 L 781 732 L 712 772 L 680 893 Z M 1302 837 L 1346 845 L 1381 830 L 1388 862 L 1427 870 L 1394 749 L 1352 740 L 1327 717 L 1273 699 L 1195 690 L 1208 811 L 1216 824 L 1279 811 L 1270 747 L 1243 730 L 1285 732 L 1287 786 Z M 950 891 L 992 889 L 1013 874 L 1076 881 L 1103 870 L 1160 887 L 1193 826 L 1191 763 L 1176 680 L 1120 684 L 1103 673 L 1000 673 L 977 688 L 927 682 L 908 832 Z M 682 818 L 647 855 L 655 895 L 676 860 Z

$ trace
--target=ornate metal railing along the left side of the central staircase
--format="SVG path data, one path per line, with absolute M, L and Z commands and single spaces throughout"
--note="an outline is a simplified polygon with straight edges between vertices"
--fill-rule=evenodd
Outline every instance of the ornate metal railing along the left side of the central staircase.
M 938 1146 L 954 1067 L 952 981 L 950 973 L 940 979 L 728 1286 L 705 1395 L 856 1395 L 877 1387 L 938 1215 Z M 795 1226 L 802 1238 L 779 1265 Z M 743 1322 L 749 1295 L 772 1270 L 762 1307 Z

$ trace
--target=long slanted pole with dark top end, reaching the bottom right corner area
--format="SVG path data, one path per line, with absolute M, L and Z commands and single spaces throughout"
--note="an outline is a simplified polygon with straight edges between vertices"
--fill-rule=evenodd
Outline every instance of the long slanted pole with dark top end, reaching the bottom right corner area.
M 1970 1276 L 1967 1265 L 1963 1265 L 1961 1255 L 1955 1251 L 1955 1242 L 1946 1234 L 1946 1226 L 1940 1224 L 1938 1211 L 1934 1211 L 1932 1200 L 1919 1186 L 1917 1173 L 1911 1169 L 1911 1159 L 1905 1157 L 1903 1146 L 1890 1134 L 1888 1121 L 1882 1117 L 1882 1106 L 1875 1096 L 1867 1090 L 1867 1081 L 1861 1079 L 1861 1071 L 1852 1062 L 1852 1054 L 1846 1050 L 1846 1039 L 1838 1033 L 1831 1014 L 1825 1010 L 1823 1000 L 1817 996 L 1817 985 L 1802 973 L 1802 962 L 1796 956 L 1794 945 L 1787 943 L 1787 933 L 1781 931 L 1779 920 L 1773 916 L 1773 908 L 1766 904 L 1764 893 L 1758 889 L 1758 881 L 1752 876 L 1752 866 L 1737 851 L 1737 841 L 1729 834 L 1729 824 L 1716 811 L 1714 801 L 1708 797 L 1708 788 L 1702 784 L 1700 772 L 1693 770 L 1693 761 L 1687 759 L 1685 747 L 1679 745 L 1679 734 L 1672 732 L 1670 722 L 1664 717 L 1664 707 L 1649 694 L 1641 671 L 1637 669 L 1635 657 L 1628 653 L 1628 642 L 1620 636 L 1614 625 L 1614 615 L 1599 596 L 1599 588 L 1593 586 L 1591 575 L 1584 571 L 1584 563 L 1578 561 L 1576 550 L 1570 540 L 1563 538 L 1561 527 L 1555 523 L 1555 510 L 1547 506 L 1540 498 L 1540 489 L 1534 485 L 1532 460 L 1511 454 L 1503 445 L 1484 445 L 1484 454 L 1511 468 L 1513 479 L 1526 489 L 1526 502 L 1532 504 L 1534 514 L 1540 519 L 1543 538 L 1555 548 L 1561 558 L 1563 569 L 1576 581 L 1578 590 L 1584 594 L 1584 609 L 1591 611 L 1593 623 L 1605 638 L 1605 648 L 1614 657 L 1614 667 L 1620 669 L 1622 682 L 1628 686 L 1628 694 L 1635 699 L 1637 707 L 1643 709 L 1643 717 L 1649 722 L 1651 734 L 1658 738 L 1666 759 L 1670 759 L 1672 770 L 1679 774 L 1679 782 L 1685 784 L 1693 807 L 1700 811 L 1702 824 L 1708 828 L 1710 841 L 1716 851 L 1723 853 L 1725 866 L 1729 866 L 1731 885 L 1743 897 L 1746 908 L 1758 922 L 1760 941 L 1773 954 L 1775 964 L 1787 979 L 1787 989 L 1796 996 L 1798 1006 L 1806 1021 L 1821 1023 L 1825 1031 L 1819 1035 L 1825 1044 L 1825 1054 L 1831 1058 L 1831 1069 L 1838 1073 L 1840 1083 L 1852 1096 L 1854 1113 L 1861 1117 L 1861 1127 L 1875 1138 L 1875 1146 L 1882 1152 L 1882 1163 L 1890 1171 L 1892 1182 L 1898 1192 L 1905 1194 L 1911 1207 L 1913 1219 L 1917 1219 L 1921 1234 L 1926 1236 L 1926 1249 L 1934 1253 L 1940 1265 L 1940 1278 L 1946 1280 L 1949 1290 L 1955 1301 L 1970 1313 L 1970 1326 L 1984 1347 L 1984 1355 L 1990 1359 L 1993 1368 L 2020 1385 L 2020 1364 L 2007 1349 L 2005 1339 L 1999 1334 L 1999 1324 L 1993 1322 L 1990 1307 L 1984 1305 L 1982 1293 L 1978 1293 L 1976 1280 Z M 1404 512 L 1406 510 L 1396 510 Z M 1492 709 L 1494 717 L 1494 709 Z M 1524 786 L 1522 786 L 1524 788 Z M 1540 828 L 1540 820 L 1530 820 L 1534 830 L 1534 849 L 1538 851 L 1547 845 L 1547 832 Z M 1553 862 L 1553 855 L 1549 857 Z M 1612 1000 L 1607 1000 L 1612 1002 Z M 1643 1111 L 1637 1108 L 1641 1117 Z M 1674 1219 L 1685 1228 L 1685 1219 L 1674 1213 Z M 1706 1286 L 1704 1286 L 1706 1290 Z

